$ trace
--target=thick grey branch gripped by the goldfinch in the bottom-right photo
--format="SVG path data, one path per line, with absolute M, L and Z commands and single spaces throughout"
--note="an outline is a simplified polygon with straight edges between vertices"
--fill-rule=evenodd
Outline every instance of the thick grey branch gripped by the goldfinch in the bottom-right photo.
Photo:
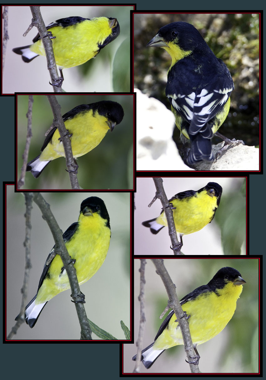
M 176 287 L 173 281 L 171 280 L 171 277 L 169 276 L 165 266 L 164 266 L 164 260 L 162 259 L 151 259 L 153 262 L 157 274 L 161 276 L 162 282 L 164 283 L 165 289 L 168 294 L 168 306 L 171 307 L 176 315 L 176 318 L 178 320 L 182 337 L 184 341 L 184 348 L 185 352 L 187 354 L 187 361 L 191 362 L 191 360 L 195 359 L 197 355 L 195 354 L 190 331 L 189 331 L 189 323 L 184 317 L 183 309 L 180 305 L 179 299 L 176 295 Z M 189 364 L 190 371 L 193 374 L 200 373 L 200 370 L 198 368 L 197 364 Z

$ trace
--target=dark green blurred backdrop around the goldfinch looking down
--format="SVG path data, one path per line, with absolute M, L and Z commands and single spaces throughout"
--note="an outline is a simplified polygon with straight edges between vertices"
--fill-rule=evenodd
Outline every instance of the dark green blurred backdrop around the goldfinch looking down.
M 78 180 L 83 189 L 133 188 L 133 95 L 56 95 L 62 115 L 81 104 L 101 100 L 117 101 L 124 109 L 124 118 L 112 133 L 107 132 L 100 144 L 78 158 Z M 28 96 L 17 97 L 18 178 L 27 134 Z M 53 122 L 53 114 L 45 95 L 33 96 L 32 134 L 28 161 L 40 154 L 44 134 Z M 57 158 L 47 165 L 39 178 L 26 173 L 24 188 L 70 189 L 65 158 Z M 130 175 L 129 175 L 130 173 Z

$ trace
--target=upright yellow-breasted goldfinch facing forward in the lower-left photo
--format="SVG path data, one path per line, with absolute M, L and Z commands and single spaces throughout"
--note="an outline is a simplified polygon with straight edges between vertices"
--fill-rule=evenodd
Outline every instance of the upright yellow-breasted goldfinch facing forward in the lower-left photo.
M 63 233 L 79 285 L 88 281 L 102 266 L 109 249 L 110 218 L 104 201 L 97 196 L 85 199 L 80 205 L 79 220 Z M 55 246 L 49 253 L 54 252 Z M 26 323 L 32 328 L 47 302 L 61 291 L 70 288 L 68 275 L 59 255 L 44 265 L 37 294 L 25 308 Z M 20 317 L 18 315 L 16 320 Z

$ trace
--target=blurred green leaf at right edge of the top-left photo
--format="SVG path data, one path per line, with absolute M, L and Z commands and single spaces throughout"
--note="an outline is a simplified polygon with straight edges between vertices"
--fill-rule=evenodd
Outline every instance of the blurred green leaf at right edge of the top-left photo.
M 113 90 L 115 92 L 130 91 L 130 48 L 129 38 L 118 47 L 113 60 Z

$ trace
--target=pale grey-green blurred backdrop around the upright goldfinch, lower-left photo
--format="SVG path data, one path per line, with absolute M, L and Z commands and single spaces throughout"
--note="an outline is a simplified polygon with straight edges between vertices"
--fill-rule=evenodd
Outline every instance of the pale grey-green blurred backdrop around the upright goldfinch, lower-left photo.
M 129 193 L 42 193 L 50 204 L 60 228 L 65 231 L 78 220 L 80 204 L 89 196 L 104 200 L 110 216 L 111 241 L 106 259 L 99 271 L 80 289 L 85 294 L 87 317 L 117 339 L 125 339 L 120 326 L 123 320 L 130 328 L 130 194 Z M 7 332 L 14 326 L 20 310 L 25 266 L 25 200 L 7 186 Z M 36 294 L 42 269 L 54 239 L 39 207 L 33 202 L 31 211 L 31 265 L 27 302 Z M 34 328 L 20 326 L 14 339 L 80 339 L 76 308 L 71 290 L 63 291 L 42 310 Z M 93 334 L 93 339 L 99 339 Z

